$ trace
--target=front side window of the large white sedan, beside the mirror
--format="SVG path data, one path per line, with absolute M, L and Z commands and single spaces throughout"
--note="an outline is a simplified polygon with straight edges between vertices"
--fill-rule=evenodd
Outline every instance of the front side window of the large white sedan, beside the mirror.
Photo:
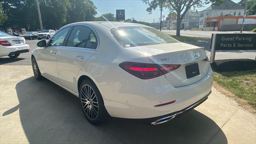
M 52 37 L 49 46 L 62 46 L 64 39 L 65 39 L 66 35 L 68 34 L 69 29 L 70 29 L 70 27 L 63 28 L 57 34 L 55 34 Z

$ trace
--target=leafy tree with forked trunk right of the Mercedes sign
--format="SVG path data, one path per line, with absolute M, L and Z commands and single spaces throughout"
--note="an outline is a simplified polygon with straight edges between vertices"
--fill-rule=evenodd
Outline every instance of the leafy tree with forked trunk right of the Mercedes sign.
M 177 14 L 177 30 L 176 36 L 180 36 L 180 24 L 186 12 L 191 8 L 202 7 L 204 4 L 220 4 L 223 0 L 142 0 L 148 4 L 147 11 L 151 14 L 158 6 L 162 4 L 163 7 L 176 11 Z M 183 13 L 182 13 L 183 12 Z

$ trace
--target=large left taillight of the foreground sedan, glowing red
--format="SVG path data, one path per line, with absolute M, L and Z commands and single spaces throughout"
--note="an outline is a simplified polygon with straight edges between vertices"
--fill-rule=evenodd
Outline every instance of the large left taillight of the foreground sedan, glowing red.
M 122 62 L 119 64 L 120 68 L 126 72 L 141 78 L 150 79 L 162 76 L 172 70 L 180 67 L 180 64 L 146 64 L 138 62 Z

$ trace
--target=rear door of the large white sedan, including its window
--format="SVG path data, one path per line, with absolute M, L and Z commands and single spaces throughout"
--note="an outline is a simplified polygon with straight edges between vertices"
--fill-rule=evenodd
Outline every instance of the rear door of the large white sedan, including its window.
M 96 52 L 97 47 L 98 38 L 90 26 L 74 26 L 57 58 L 58 75 L 62 86 L 77 91 L 76 76 L 84 63 Z

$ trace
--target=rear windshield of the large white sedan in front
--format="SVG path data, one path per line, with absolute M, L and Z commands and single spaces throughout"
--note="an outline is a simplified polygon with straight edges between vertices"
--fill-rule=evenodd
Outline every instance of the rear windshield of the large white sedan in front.
M 113 28 L 110 32 L 124 48 L 179 42 L 167 34 L 150 27 L 120 27 Z

